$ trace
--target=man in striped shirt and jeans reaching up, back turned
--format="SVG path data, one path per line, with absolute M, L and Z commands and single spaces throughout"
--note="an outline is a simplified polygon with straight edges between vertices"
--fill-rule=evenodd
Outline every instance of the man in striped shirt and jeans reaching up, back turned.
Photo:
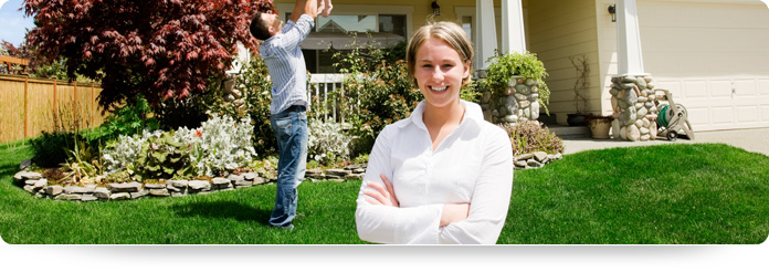
M 251 34 L 264 41 L 260 55 L 273 82 L 270 122 L 277 137 L 277 193 L 270 224 L 293 229 L 297 186 L 307 163 L 307 67 L 299 44 L 318 15 L 317 0 L 297 0 L 285 25 L 277 14 L 257 12 Z

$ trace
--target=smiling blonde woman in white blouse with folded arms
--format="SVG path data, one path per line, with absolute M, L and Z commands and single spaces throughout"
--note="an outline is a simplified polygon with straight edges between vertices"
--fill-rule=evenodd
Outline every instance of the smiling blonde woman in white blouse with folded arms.
M 360 239 L 377 243 L 496 243 L 513 187 L 507 134 L 460 100 L 473 46 L 455 23 L 420 28 L 407 48 L 422 101 L 377 137 L 358 193 Z

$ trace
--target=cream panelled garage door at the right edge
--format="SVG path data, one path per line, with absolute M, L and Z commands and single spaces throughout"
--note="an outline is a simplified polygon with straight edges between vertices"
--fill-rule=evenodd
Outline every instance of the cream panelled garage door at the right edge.
M 645 72 L 694 130 L 769 127 L 769 8 L 760 1 L 638 1 Z

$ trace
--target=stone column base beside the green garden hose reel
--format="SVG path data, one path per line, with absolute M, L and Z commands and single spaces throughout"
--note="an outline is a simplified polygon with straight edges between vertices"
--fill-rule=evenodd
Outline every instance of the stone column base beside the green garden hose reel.
M 615 76 L 611 81 L 614 137 L 631 142 L 655 139 L 659 109 L 652 76 Z

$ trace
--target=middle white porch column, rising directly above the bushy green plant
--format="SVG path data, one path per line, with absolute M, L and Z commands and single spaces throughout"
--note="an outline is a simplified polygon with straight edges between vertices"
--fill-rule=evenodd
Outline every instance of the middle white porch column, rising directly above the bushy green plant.
M 526 52 L 524 7 L 520 0 L 502 1 L 502 49 L 504 54 Z

